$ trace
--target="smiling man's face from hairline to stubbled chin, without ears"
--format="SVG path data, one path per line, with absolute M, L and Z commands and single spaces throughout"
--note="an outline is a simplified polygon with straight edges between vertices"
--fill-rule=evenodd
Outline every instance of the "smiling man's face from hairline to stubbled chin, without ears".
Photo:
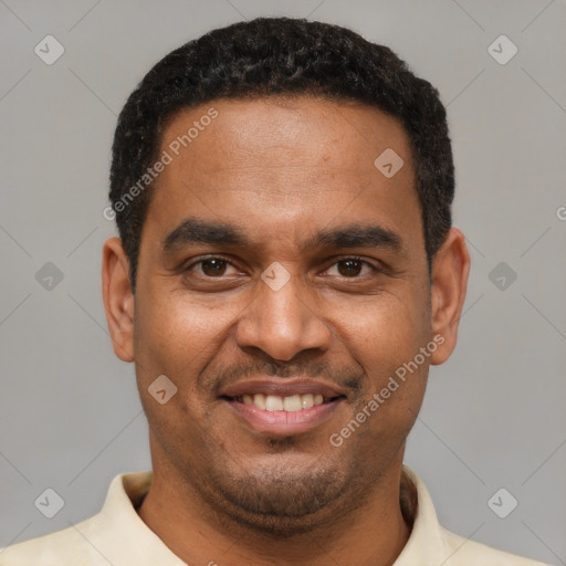
M 390 178 L 374 165 L 387 148 L 405 161 Z M 154 470 L 273 533 L 359 507 L 400 465 L 430 363 L 368 409 L 432 339 L 403 128 L 361 105 L 216 101 L 178 114 L 163 150 L 174 159 L 144 224 L 134 329 Z M 177 387 L 164 405 L 148 392 L 160 375 Z M 331 442 L 364 408 L 366 422 Z

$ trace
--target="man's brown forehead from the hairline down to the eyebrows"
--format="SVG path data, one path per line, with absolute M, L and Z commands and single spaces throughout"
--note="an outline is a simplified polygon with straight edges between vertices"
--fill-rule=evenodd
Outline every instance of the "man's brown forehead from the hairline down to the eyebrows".
M 170 163 L 148 213 L 161 227 L 161 242 L 188 217 L 297 243 L 333 221 L 401 232 L 420 224 L 408 136 L 397 119 L 366 105 L 283 96 L 213 101 L 169 122 L 164 153 Z M 381 155 L 397 159 L 395 168 L 402 164 L 394 176 L 376 167 Z

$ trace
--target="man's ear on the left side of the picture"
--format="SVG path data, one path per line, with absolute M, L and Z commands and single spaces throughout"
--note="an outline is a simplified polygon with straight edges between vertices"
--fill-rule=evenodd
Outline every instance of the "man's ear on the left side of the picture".
M 129 283 L 129 261 L 119 238 L 104 242 L 102 294 L 114 354 L 134 360 L 134 294 Z

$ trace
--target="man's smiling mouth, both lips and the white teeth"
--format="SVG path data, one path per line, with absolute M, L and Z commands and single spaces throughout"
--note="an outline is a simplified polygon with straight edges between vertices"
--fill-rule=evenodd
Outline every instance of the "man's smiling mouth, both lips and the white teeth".
M 220 400 L 249 430 L 289 437 L 321 427 L 339 410 L 346 395 L 312 380 L 256 381 L 234 386 Z

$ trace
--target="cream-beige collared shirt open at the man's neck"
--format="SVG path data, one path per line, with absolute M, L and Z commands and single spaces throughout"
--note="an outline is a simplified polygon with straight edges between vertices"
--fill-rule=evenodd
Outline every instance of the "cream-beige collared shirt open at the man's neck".
M 394 566 L 544 566 L 447 531 L 422 480 L 406 465 L 402 472 L 401 506 L 413 525 Z M 0 566 L 187 566 L 136 512 L 151 476 L 116 475 L 98 514 L 0 551 Z

